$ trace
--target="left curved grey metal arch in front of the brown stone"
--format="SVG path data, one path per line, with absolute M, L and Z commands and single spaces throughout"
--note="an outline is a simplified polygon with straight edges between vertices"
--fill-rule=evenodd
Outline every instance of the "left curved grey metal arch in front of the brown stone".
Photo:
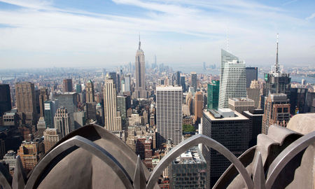
M 57 147 L 52 149 L 50 153 L 45 155 L 43 160 L 41 160 L 41 162 L 39 162 L 38 165 L 36 165 L 36 167 L 34 168 L 34 171 L 29 177 L 29 180 L 27 181 L 27 185 L 25 186 L 25 188 L 35 188 L 36 187 L 35 184 L 38 181 L 38 178 L 40 178 L 41 174 L 45 170 L 45 167 L 47 167 L 49 163 L 52 160 L 54 160 L 54 158 L 57 157 L 57 155 L 63 153 L 64 151 L 73 146 L 78 146 L 80 148 L 85 149 L 85 151 L 88 151 L 93 155 L 96 155 L 99 159 L 105 162 L 106 165 L 109 165 L 109 167 L 113 169 L 113 172 L 117 174 L 120 181 L 122 181 L 123 184 L 125 185 L 125 188 L 133 188 L 132 179 L 130 179 L 130 176 L 127 174 L 123 166 L 120 165 L 120 163 L 115 158 L 113 158 L 113 156 L 110 153 L 108 153 L 101 146 L 94 144 L 92 141 L 80 136 L 75 136 L 72 137 L 71 139 L 64 141 L 62 144 L 59 144 Z

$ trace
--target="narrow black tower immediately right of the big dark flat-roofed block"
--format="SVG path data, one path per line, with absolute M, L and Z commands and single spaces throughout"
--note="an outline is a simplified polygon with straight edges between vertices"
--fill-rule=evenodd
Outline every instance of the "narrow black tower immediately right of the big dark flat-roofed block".
M 249 109 L 243 111 L 243 116 L 248 118 L 248 148 L 257 144 L 257 136 L 261 134 L 262 116 L 264 111 L 262 109 Z

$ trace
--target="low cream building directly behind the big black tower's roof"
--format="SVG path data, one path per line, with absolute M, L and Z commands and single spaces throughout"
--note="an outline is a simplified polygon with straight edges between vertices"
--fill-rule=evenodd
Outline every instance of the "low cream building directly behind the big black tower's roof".
M 231 98 L 229 99 L 229 109 L 243 113 L 255 107 L 255 102 L 248 98 Z

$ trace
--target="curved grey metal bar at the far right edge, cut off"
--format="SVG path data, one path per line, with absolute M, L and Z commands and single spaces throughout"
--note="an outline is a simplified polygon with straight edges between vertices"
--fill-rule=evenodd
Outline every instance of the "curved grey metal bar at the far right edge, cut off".
M 314 142 L 315 131 L 305 134 L 303 137 L 297 139 L 286 147 L 286 149 L 284 149 L 269 166 L 266 189 L 272 188 L 276 177 L 280 174 L 281 170 L 288 164 L 288 162 L 290 162 L 290 160 Z

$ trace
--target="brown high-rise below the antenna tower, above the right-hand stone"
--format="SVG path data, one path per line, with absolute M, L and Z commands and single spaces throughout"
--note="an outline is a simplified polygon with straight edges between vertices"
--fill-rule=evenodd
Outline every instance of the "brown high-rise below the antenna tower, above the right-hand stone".
M 272 124 L 286 127 L 290 120 L 290 104 L 286 94 L 269 94 L 265 103 L 265 113 L 262 117 L 262 134 L 268 134 Z

